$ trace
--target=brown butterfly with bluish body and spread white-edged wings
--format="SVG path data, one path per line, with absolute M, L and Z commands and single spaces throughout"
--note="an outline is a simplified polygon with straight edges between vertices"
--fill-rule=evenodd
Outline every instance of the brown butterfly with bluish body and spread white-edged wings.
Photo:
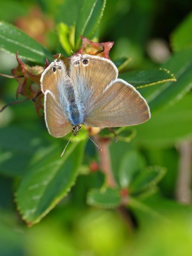
M 45 123 L 58 138 L 81 124 L 90 127 L 137 125 L 150 118 L 146 100 L 129 83 L 118 79 L 118 69 L 106 58 L 74 54 L 69 65 L 58 58 L 42 73 Z

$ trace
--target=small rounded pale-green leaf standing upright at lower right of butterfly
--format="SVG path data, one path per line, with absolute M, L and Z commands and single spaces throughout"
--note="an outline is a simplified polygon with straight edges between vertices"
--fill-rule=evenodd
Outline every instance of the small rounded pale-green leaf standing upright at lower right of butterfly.
M 145 159 L 139 152 L 131 150 L 125 153 L 120 161 L 118 172 L 120 185 L 123 188 L 128 188 L 132 180 L 134 180 L 136 175 L 138 175 L 145 166 Z

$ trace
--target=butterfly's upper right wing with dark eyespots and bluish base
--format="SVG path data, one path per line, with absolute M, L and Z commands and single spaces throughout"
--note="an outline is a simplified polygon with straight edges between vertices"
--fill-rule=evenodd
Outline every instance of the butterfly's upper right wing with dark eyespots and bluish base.
M 77 98 L 83 102 L 86 111 L 100 100 L 102 90 L 118 76 L 112 61 L 88 54 L 72 56 L 70 78 Z

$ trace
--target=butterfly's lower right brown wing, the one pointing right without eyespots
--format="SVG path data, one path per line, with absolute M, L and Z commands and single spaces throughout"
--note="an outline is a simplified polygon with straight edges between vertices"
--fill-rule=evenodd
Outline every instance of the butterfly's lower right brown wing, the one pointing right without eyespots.
M 122 79 L 112 81 L 100 100 L 88 110 L 84 124 L 93 127 L 120 127 L 146 122 L 150 118 L 147 102 Z

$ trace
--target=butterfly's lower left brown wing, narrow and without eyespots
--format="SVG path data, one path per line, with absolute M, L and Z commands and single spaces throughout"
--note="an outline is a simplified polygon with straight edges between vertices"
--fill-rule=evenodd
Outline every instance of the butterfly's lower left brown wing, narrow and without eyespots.
M 45 92 L 44 111 L 45 123 L 52 136 L 63 137 L 72 131 L 72 125 L 68 121 L 65 111 L 54 100 L 54 95 L 49 90 Z

